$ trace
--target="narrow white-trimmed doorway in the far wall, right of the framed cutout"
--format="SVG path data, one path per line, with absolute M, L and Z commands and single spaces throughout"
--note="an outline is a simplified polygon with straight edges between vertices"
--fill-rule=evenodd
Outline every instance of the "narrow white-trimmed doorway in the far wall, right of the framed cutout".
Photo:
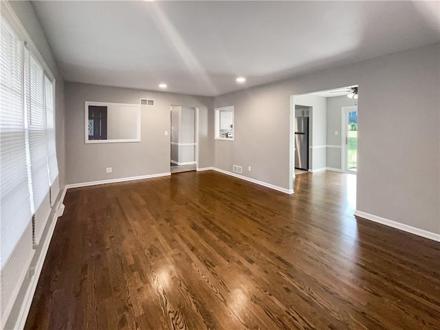
M 197 108 L 172 105 L 170 173 L 197 170 Z

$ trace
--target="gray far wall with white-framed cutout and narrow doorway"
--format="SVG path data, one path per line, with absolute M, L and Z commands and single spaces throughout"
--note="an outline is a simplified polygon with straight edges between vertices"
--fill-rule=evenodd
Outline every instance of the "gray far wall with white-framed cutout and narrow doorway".
M 169 173 L 171 104 L 199 108 L 199 167 L 212 166 L 212 98 L 80 83 L 65 89 L 67 184 Z M 85 101 L 139 104 L 140 98 L 155 100 L 141 107 L 141 142 L 85 144 Z M 107 167 L 113 172 L 105 173 Z

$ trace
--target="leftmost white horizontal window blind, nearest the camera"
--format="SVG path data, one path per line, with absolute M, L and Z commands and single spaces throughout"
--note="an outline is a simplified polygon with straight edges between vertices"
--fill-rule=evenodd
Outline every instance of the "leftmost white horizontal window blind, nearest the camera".
M 1 17 L 0 231 L 1 268 L 30 223 L 23 111 L 23 43 Z

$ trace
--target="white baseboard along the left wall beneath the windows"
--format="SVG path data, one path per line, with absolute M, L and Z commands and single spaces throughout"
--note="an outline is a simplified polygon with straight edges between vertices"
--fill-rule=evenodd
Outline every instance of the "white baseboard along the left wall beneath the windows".
M 19 316 L 17 317 L 17 322 L 14 325 L 14 329 L 23 329 L 25 327 L 26 320 L 28 319 L 28 314 L 30 306 L 32 305 L 32 300 L 34 299 L 34 294 L 36 290 L 36 285 L 39 283 L 39 278 L 41 275 L 41 270 L 43 270 L 43 264 L 46 259 L 47 250 L 49 250 L 50 241 L 52 241 L 52 235 L 54 234 L 56 222 L 58 217 L 61 217 L 64 212 L 64 197 L 66 195 L 67 187 L 65 186 L 63 192 L 61 193 L 60 201 L 56 206 L 56 211 L 53 214 L 52 223 L 49 230 L 47 230 L 47 235 L 45 236 L 45 241 L 43 242 L 43 247 L 41 248 L 41 254 L 39 255 L 38 261 L 35 265 L 35 273 L 30 280 L 28 289 L 26 290 L 25 296 L 23 298 L 23 303 L 19 311 Z

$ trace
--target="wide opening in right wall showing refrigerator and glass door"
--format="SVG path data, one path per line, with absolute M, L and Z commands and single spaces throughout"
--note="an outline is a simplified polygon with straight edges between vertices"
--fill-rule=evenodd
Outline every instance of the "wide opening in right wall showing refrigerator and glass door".
M 291 96 L 290 131 L 294 191 L 304 175 L 358 173 L 358 87 Z

